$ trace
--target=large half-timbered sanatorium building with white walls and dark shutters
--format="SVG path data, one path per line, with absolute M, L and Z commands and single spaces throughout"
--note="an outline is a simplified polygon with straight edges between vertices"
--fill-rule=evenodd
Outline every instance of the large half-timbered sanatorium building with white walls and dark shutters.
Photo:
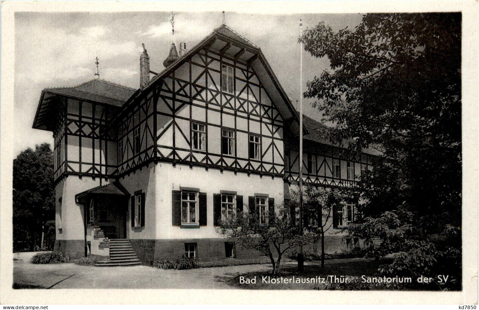
M 173 42 L 163 64 L 150 71 L 144 47 L 138 89 L 97 77 L 42 91 L 33 127 L 55 138 L 56 249 L 110 265 L 257 257 L 215 228 L 284 202 L 298 180 L 298 113 L 261 49 L 226 25 L 180 54 Z M 376 150 L 350 155 L 304 120 L 304 182 L 350 186 L 372 168 Z M 341 208 L 338 229 L 354 218 L 353 204 Z

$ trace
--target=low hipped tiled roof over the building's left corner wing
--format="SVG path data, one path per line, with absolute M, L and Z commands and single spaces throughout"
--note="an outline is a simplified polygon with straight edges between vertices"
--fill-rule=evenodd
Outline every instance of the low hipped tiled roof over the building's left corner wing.
M 53 130 L 56 124 L 55 117 L 57 117 L 57 111 L 54 110 L 61 108 L 61 104 L 56 100 L 58 96 L 99 102 L 120 108 L 135 91 L 136 89 L 100 79 L 92 79 L 73 87 L 46 88 L 42 90 L 33 128 Z

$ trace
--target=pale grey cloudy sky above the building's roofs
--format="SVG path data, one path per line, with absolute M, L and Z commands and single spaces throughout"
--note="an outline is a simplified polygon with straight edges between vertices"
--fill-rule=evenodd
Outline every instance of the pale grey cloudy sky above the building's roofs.
M 335 31 L 353 29 L 360 14 L 244 14 L 226 12 L 225 23 L 260 47 L 294 104 L 299 100 L 299 20 L 303 29 L 324 21 Z M 150 70 L 160 72 L 171 46 L 171 12 L 15 13 L 14 156 L 35 144 L 53 145 L 51 132 L 32 129 L 42 89 L 71 87 L 94 77 L 139 87 L 139 57 L 145 44 Z M 175 42 L 193 47 L 222 22 L 221 11 L 175 12 Z M 327 58 L 303 52 L 303 91 L 308 80 L 329 68 Z M 303 111 L 320 120 L 311 100 Z

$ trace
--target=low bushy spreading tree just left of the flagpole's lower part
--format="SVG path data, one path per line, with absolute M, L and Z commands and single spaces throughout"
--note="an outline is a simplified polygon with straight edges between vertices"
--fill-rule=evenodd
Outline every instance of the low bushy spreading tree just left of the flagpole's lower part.
M 289 249 L 312 244 L 314 233 L 300 233 L 284 205 L 276 206 L 277 212 L 268 214 L 268 222 L 261 223 L 255 213 L 238 212 L 228 221 L 220 221 L 220 236 L 234 238 L 241 249 L 254 249 L 269 257 L 273 276 L 279 272 L 281 258 Z

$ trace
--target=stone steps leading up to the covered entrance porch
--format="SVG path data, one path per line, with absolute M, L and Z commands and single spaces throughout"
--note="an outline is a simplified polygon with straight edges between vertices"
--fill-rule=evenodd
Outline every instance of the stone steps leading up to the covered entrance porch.
M 95 266 L 136 266 L 141 265 L 128 239 L 110 239 L 110 258 Z

